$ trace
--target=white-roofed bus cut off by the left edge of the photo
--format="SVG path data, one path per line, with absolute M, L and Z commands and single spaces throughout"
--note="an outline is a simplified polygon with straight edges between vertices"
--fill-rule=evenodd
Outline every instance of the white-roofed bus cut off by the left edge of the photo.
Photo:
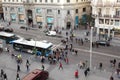
M 0 39 L 5 40 L 6 44 L 10 43 L 13 40 L 19 39 L 15 34 L 0 32 Z

